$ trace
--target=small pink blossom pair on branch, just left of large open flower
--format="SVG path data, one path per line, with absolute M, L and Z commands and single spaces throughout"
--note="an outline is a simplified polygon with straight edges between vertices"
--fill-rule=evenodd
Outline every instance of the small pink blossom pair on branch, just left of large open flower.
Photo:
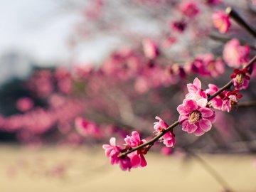
M 169 125 L 166 124 L 166 122 L 164 122 L 160 117 L 156 116 L 156 119 L 158 119 L 159 122 L 154 122 L 154 129 L 157 134 L 160 134 L 162 131 L 167 129 L 169 127 Z M 160 139 L 164 142 L 164 144 L 167 147 L 174 147 L 175 142 L 176 142 L 175 135 L 171 131 L 164 134 L 164 136 L 161 137 Z

